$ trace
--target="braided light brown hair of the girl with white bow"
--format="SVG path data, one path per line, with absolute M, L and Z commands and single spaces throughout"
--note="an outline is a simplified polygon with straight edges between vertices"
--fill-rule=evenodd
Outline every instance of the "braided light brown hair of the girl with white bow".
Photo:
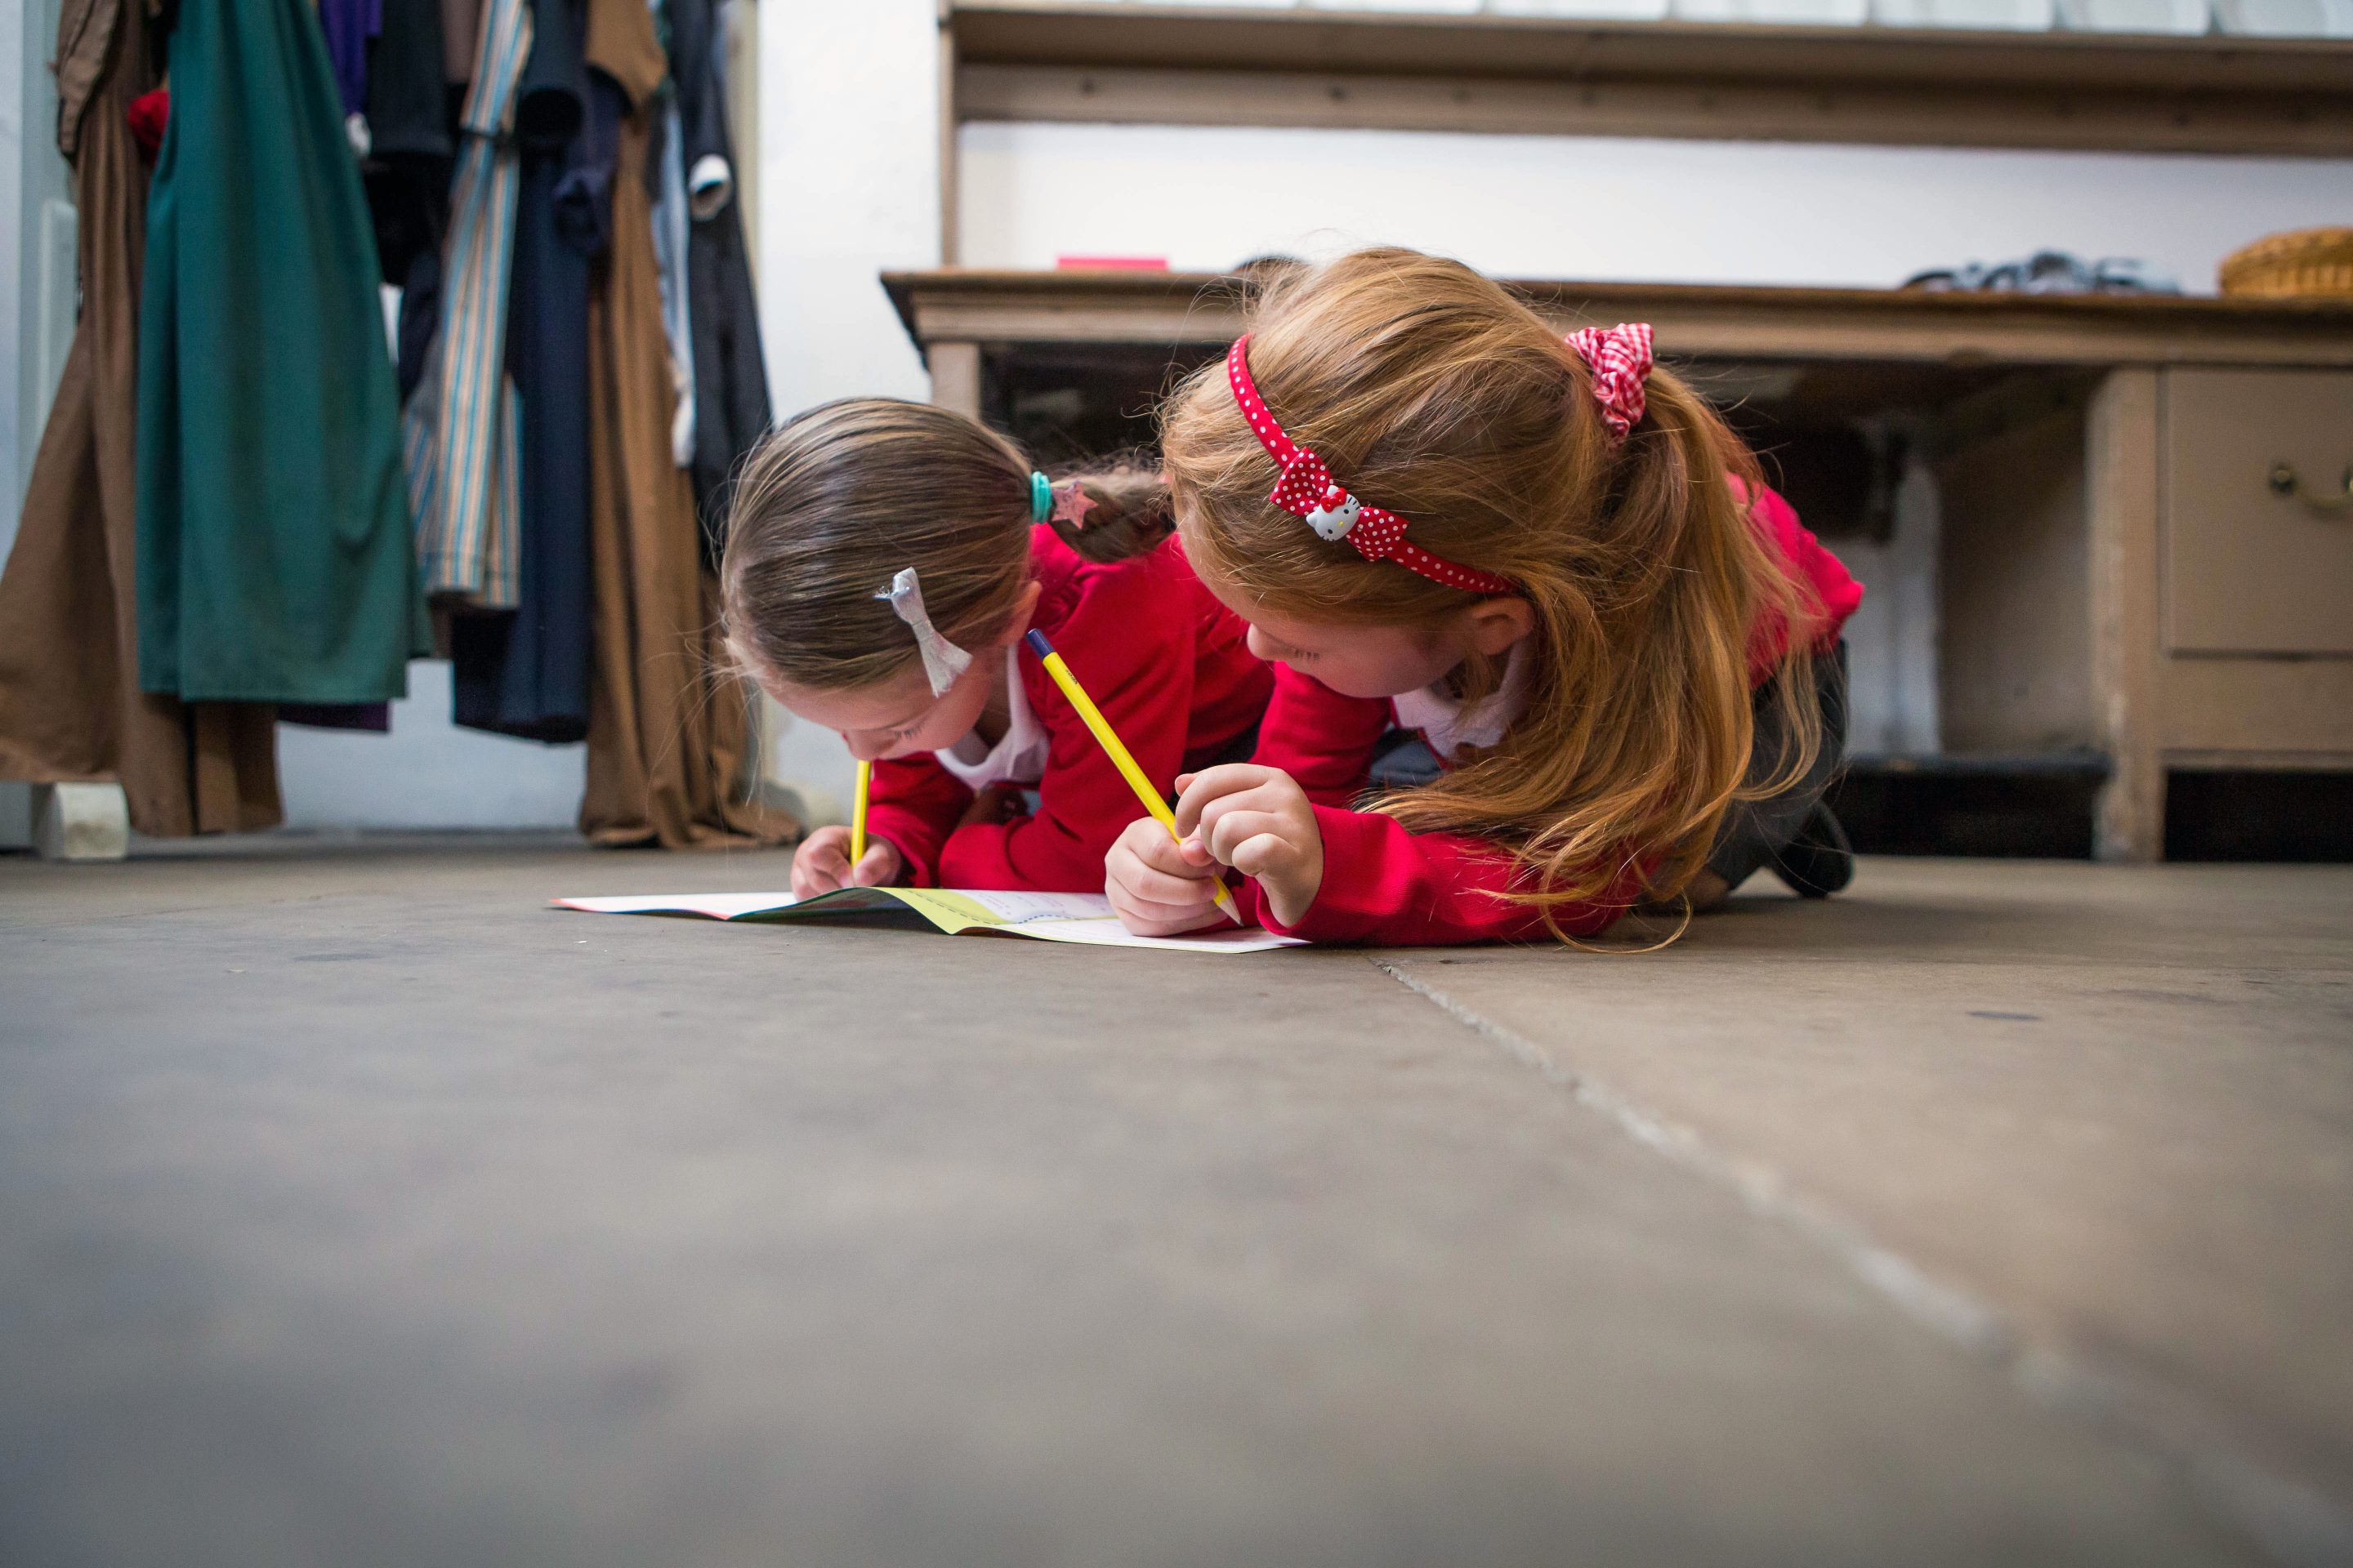
M 1085 527 L 1052 527 L 1085 559 L 1141 555 L 1174 527 L 1151 465 L 1068 477 L 1094 505 Z M 800 414 L 751 454 L 729 505 L 720 590 L 736 661 L 828 691 L 896 679 L 920 654 L 875 595 L 906 567 L 948 642 L 1005 639 L 1031 581 L 1031 491 L 1028 456 L 962 414 L 892 397 Z

